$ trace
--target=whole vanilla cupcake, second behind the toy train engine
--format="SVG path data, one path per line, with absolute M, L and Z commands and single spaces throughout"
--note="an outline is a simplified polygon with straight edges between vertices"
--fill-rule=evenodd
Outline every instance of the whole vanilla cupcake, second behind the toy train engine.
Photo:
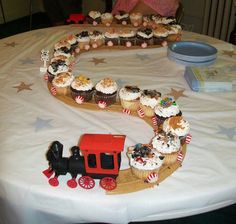
M 151 146 L 163 155 L 163 165 L 171 165 L 177 161 L 181 144 L 177 135 L 161 130 L 151 139 Z

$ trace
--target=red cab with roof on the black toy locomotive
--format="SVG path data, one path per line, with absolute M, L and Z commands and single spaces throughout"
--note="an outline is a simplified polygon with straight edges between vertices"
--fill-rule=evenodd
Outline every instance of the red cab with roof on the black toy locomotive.
M 118 154 L 124 149 L 125 135 L 112 134 L 84 134 L 80 139 L 80 150 L 84 156 L 86 173 L 118 175 L 119 163 Z M 102 168 L 101 153 L 113 156 L 113 169 Z M 94 155 L 96 167 L 89 166 L 89 155 Z

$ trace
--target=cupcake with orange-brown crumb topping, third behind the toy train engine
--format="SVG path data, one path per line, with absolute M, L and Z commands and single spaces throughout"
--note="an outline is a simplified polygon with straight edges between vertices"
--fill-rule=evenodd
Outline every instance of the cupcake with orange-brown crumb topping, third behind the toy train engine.
M 190 131 L 190 124 L 182 116 L 170 117 L 163 123 L 163 130 L 177 135 L 181 144 L 185 144 L 186 137 Z

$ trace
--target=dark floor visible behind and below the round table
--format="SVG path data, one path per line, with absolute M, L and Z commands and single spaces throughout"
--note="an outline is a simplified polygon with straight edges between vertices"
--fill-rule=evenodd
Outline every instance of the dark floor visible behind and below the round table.
M 50 27 L 52 24 L 45 13 L 36 13 L 32 17 L 31 29 Z M 0 24 L 0 39 L 30 30 L 30 18 L 24 17 L 6 24 Z M 193 202 L 194 203 L 194 202 Z M 141 222 L 132 222 L 131 224 Z M 149 224 L 234 224 L 236 223 L 236 204 L 185 218 L 145 222 Z

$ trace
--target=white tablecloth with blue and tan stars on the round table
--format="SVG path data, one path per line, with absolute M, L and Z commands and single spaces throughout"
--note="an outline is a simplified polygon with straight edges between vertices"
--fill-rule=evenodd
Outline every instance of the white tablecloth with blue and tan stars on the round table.
M 97 180 L 92 190 L 70 189 L 70 175 L 60 176 L 56 188 L 48 184 L 42 171 L 54 140 L 64 145 L 68 156 L 83 133 L 125 134 L 125 149 L 148 143 L 154 135 L 140 118 L 71 107 L 49 93 L 39 72 L 40 51 L 52 52 L 59 39 L 79 31 L 62 26 L 0 40 L 0 223 L 128 223 L 184 217 L 235 203 L 236 92 L 191 91 L 184 66 L 169 61 L 165 47 L 87 52 L 79 56 L 73 72 L 94 83 L 110 76 L 120 87 L 138 85 L 175 97 L 177 91 L 176 101 L 193 136 L 183 166 L 158 187 L 123 195 L 106 195 Z M 235 63 L 230 44 L 193 33 L 184 33 L 183 39 L 210 43 L 218 49 L 219 62 Z M 93 58 L 104 63 L 96 65 Z

